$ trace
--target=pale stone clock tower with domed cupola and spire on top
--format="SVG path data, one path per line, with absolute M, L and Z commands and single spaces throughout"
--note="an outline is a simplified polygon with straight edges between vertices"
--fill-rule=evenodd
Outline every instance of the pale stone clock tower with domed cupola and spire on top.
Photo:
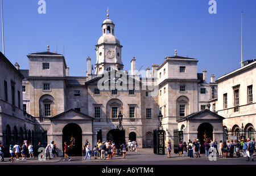
M 117 37 L 114 36 L 115 24 L 112 20 L 104 20 L 102 23 L 102 36 L 98 39 L 96 45 L 97 61 L 95 71 L 97 75 L 103 74 L 104 71 L 123 70 L 121 59 L 122 45 Z

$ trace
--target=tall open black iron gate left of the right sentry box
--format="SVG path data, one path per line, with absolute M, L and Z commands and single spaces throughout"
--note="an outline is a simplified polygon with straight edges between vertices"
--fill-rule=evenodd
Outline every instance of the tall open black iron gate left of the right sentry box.
M 154 154 L 165 154 L 165 135 L 164 130 L 154 130 Z

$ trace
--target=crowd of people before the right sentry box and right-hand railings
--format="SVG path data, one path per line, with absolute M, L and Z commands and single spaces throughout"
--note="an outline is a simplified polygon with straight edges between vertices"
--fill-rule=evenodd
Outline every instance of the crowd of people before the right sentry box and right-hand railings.
M 206 139 L 201 144 L 199 139 L 195 139 L 195 141 L 191 141 L 189 139 L 188 143 L 185 141 L 180 141 L 179 143 L 179 157 L 188 156 L 192 157 L 194 154 L 196 154 L 196 157 L 200 156 L 200 151 L 204 149 L 205 157 L 209 156 L 209 153 L 212 154 L 212 157 L 214 156 L 214 153 L 218 154 L 218 157 L 220 158 L 226 158 L 226 157 L 234 157 L 234 154 L 236 157 L 247 157 L 246 161 L 249 161 L 249 158 L 251 157 L 251 160 L 254 161 L 253 156 L 255 155 L 255 139 L 250 140 L 249 138 L 247 140 L 231 140 L 231 142 L 228 140 L 222 142 L 220 140 L 220 143 L 217 143 L 216 140 L 212 139 Z M 168 141 L 167 144 L 167 151 L 168 156 L 171 157 L 171 140 Z

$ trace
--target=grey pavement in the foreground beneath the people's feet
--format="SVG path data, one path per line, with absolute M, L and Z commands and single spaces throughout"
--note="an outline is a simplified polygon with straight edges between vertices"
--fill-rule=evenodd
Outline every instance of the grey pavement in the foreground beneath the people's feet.
M 86 160 L 84 160 L 84 156 L 73 156 L 71 157 L 71 161 L 68 161 L 68 158 L 66 161 L 64 160 L 64 157 L 56 157 L 56 158 L 52 158 L 51 160 L 49 160 L 47 158 L 47 160 L 43 160 L 42 158 L 27 158 L 27 160 L 22 160 L 22 157 L 19 157 L 19 160 L 15 160 L 14 159 L 14 164 L 47 164 L 47 163 L 53 163 L 53 162 L 60 162 L 60 163 L 64 163 L 64 162 L 101 162 L 102 164 L 105 162 L 125 162 L 125 161 L 170 161 L 170 160 L 209 160 L 212 157 L 205 157 L 205 154 L 200 154 L 200 158 L 196 158 L 195 157 L 196 154 L 194 154 L 194 157 L 187 157 L 187 156 L 182 156 L 179 157 L 179 154 L 175 154 L 175 153 L 171 153 L 171 158 L 167 157 L 167 152 L 166 154 L 154 154 L 153 153 L 153 148 L 138 148 L 138 152 L 126 152 L 126 158 L 122 158 L 121 155 L 116 155 L 115 157 L 112 158 L 112 160 L 108 160 L 108 156 L 106 153 L 106 160 L 94 160 L 94 157 L 91 157 L 91 160 L 89 160 L 89 156 L 86 158 Z M 210 154 L 211 156 L 211 154 Z M 225 159 L 238 159 L 236 157 L 234 158 L 219 158 L 218 155 L 216 156 L 216 158 L 218 158 L 218 160 L 225 160 Z M 245 157 L 241 156 L 240 158 L 243 158 L 243 160 L 246 160 Z M 212 158 L 213 160 L 214 158 Z M 256 162 L 255 162 L 256 163 Z M 13 164 L 12 162 L 9 161 L 9 157 L 5 157 L 5 161 L 4 162 L 0 162 L 0 165 L 2 164 Z

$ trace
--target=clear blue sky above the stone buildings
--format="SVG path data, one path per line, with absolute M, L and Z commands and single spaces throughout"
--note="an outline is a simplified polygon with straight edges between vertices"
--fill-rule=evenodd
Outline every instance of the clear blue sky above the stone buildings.
M 254 0 L 216 0 L 217 14 L 209 14 L 209 0 L 45 0 L 46 14 L 38 13 L 38 1 L 3 0 L 5 55 L 20 69 L 28 69 L 27 54 L 49 45 L 64 54 L 70 76 L 85 76 L 86 58 L 96 63 L 94 49 L 108 7 L 123 46 L 124 70 L 130 70 L 133 57 L 137 69 L 146 70 L 177 49 L 177 55 L 198 59 L 197 72 L 206 68 L 208 81 L 212 74 L 216 79 L 228 74 L 241 66 L 242 11 L 243 61 L 256 58 Z

